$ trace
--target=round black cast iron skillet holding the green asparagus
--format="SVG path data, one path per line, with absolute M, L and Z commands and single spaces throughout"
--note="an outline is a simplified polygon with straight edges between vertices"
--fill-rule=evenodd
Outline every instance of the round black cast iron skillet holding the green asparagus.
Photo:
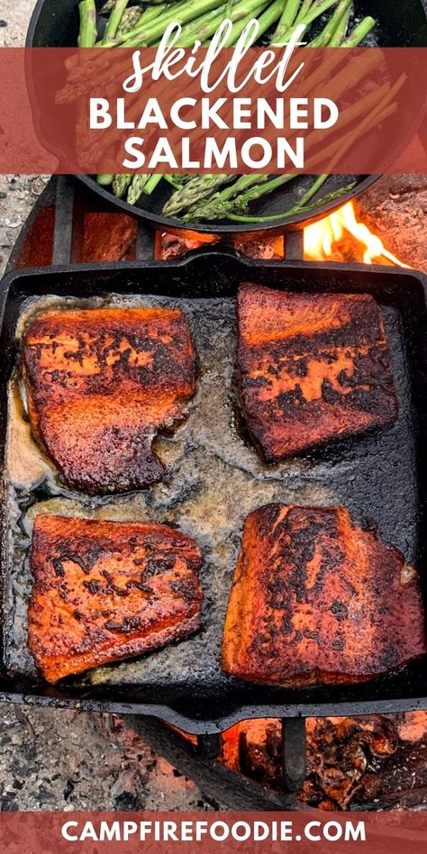
M 131 3 L 134 0 L 131 0 Z M 101 8 L 103 0 L 96 0 L 96 5 Z M 28 47 L 73 47 L 77 44 L 78 33 L 78 0 L 38 0 L 30 22 L 27 34 Z M 381 47 L 424 47 L 427 45 L 427 20 L 424 13 L 422 0 L 354 0 L 355 20 L 358 22 L 364 15 L 371 14 L 377 20 L 377 26 L 373 33 L 368 36 L 369 44 Z M 104 18 L 100 18 L 100 28 Z M 322 19 L 319 27 L 323 26 Z M 315 32 L 315 31 L 314 31 Z M 404 123 L 404 116 L 402 117 Z M 52 129 L 50 129 L 51 142 Z M 408 139 L 409 142 L 409 139 Z M 209 232 L 214 234 L 236 234 L 258 232 L 284 232 L 286 229 L 301 228 L 331 213 L 341 204 L 349 201 L 362 193 L 368 186 L 374 183 L 378 175 L 361 175 L 357 177 L 357 184 L 350 192 L 341 195 L 338 200 L 329 201 L 314 209 L 307 216 L 300 213 L 294 217 L 277 220 L 275 223 L 228 223 L 226 220 L 214 223 L 180 223 L 177 219 L 171 219 L 161 215 L 163 204 L 165 204 L 170 187 L 162 182 L 159 189 L 152 196 L 142 195 L 138 204 L 131 205 L 117 199 L 108 188 L 99 186 L 95 177 L 77 176 L 92 192 L 101 196 L 105 201 L 114 203 L 125 213 L 132 214 L 155 227 L 167 229 L 170 232 L 179 232 L 183 228 L 186 231 Z M 355 176 L 334 175 L 328 178 L 323 186 L 323 195 L 331 194 L 334 190 L 349 184 Z M 266 216 L 280 213 L 286 210 L 295 199 L 295 191 L 301 187 L 309 186 L 310 176 L 301 176 L 291 183 L 277 190 L 276 193 L 259 199 L 250 213 Z

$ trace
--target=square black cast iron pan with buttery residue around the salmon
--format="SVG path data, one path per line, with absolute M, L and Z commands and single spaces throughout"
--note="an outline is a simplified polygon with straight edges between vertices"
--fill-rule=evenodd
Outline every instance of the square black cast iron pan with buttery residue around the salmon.
M 395 425 L 276 467 L 264 466 L 241 432 L 235 412 L 234 298 L 242 281 L 308 293 L 373 295 L 386 323 L 392 355 L 400 405 Z M 80 504 L 80 513 L 95 513 L 100 500 L 67 494 L 41 479 L 32 491 L 18 490 L 22 515 L 16 525 L 9 518 L 8 503 L 4 504 L 2 660 L 9 667 L 4 663 L 0 670 L 0 698 L 149 714 L 193 732 L 222 730 L 250 717 L 427 708 L 424 659 L 360 685 L 298 689 L 251 685 L 226 676 L 219 668 L 223 613 L 241 525 L 254 506 L 271 500 L 344 504 L 360 524 L 376 524 L 384 541 L 402 550 L 418 568 L 427 607 L 425 277 L 396 268 L 257 261 L 214 247 L 168 264 L 147 261 L 11 273 L 5 277 L 1 295 L 0 337 L 5 354 L 0 395 L 2 450 L 6 388 L 18 355 L 16 323 L 29 300 L 47 296 L 68 304 L 76 299 L 89 300 L 89 304 L 108 304 L 112 299 L 118 304 L 181 304 L 186 311 L 199 359 L 198 391 L 186 424 L 173 437 L 159 441 L 159 453 L 167 461 L 164 482 L 143 493 L 103 498 L 101 512 L 121 518 L 126 502 L 134 502 L 138 518 L 172 522 L 200 542 L 204 551 L 204 630 L 150 656 L 48 686 L 34 670 L 26 647 L 22 612 L 31 579 L 29 537 L 23 521 L 32 517 L 36 507 L 38 512 L 57 507 L 63 513 L 58 509 L 63 506 L 60 502 L 71 507 L 71 512 Z M 6 480 L 5 489 L 9 486 Z M 14 565 L 6 536 L 11 526 L 13 548 L 18 549 Z M 21 613 L 15 621 L 11 620 L 13 607 Z

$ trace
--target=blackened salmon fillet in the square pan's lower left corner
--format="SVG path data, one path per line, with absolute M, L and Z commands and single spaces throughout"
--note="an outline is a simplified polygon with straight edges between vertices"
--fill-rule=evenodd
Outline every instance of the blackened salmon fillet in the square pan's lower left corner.
M 200 626 L 201 552 L 167 525 L 41 514 L 29 647 L 49 682 L 157 650 Z

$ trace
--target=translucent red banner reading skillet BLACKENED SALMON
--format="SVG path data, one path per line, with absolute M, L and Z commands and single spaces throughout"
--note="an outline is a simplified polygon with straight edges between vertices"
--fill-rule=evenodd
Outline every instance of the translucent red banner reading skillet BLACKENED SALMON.
M 0 172 L 427 172 L 427 49 L 284 51 L 3 48 Z

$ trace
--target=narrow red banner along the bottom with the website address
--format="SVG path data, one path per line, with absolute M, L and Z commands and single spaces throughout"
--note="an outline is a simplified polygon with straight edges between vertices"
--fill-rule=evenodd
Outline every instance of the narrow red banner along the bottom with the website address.
M 7 854 L 424 854 L 426 813 L 0 813 Z

